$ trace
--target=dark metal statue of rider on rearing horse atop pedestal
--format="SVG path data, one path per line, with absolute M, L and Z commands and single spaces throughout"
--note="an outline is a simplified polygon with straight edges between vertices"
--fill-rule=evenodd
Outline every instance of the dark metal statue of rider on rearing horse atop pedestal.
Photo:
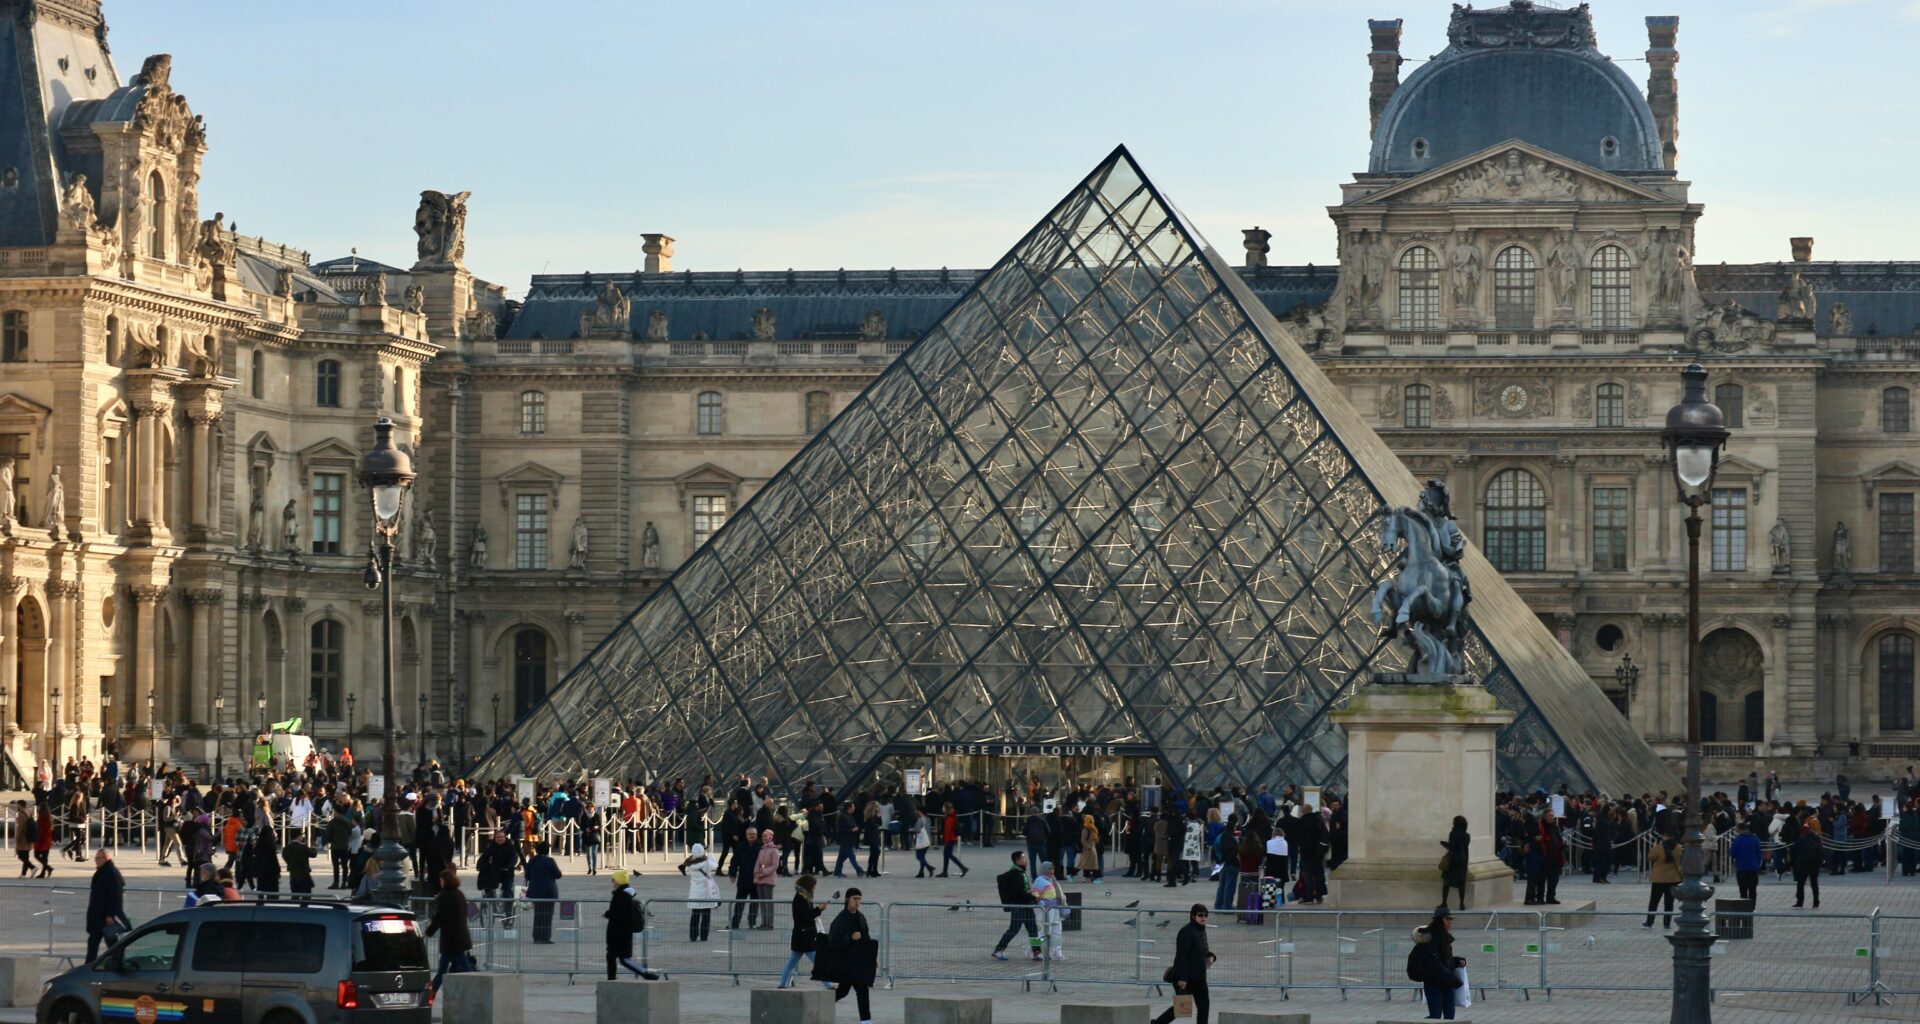
M 1407 674 L 1463 674 L 1473 594 L 1459 567 L 1467 538 L 1453 523 L 1446 484 L 1428 480 L 1419 509 L 1386 513 L 1380 546 L 1396 553 L 1396 573 L 1375 588 L 1369 619 L 1386 624 L 1386 636 L 1405 636 L 1413 647 Z

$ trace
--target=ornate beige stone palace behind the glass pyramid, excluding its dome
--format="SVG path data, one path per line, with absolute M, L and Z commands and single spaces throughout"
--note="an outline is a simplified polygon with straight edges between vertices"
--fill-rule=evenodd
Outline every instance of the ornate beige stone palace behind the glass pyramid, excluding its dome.
M 121 85 L 96 2 L 0 13 L 31 98 L 0 127 L 40 154 L 0 169 L 15 765 L 108 740 L 209 763 L 225 738 L 232 759 L 296 715 L 326 745 L 372 744 L 355 467 L 378 415 L 420 469 L 401 745 L 478 753 L 977 277 L 676 273 L 674 240 L 649 234 L 645 269 L 541 275 L 511 304 L 467 269 L 465 192 L 420 196 L 407 269 L 313 263 L 202 217 L 207 127 L 167 58 Z M 1645 136 L 1586 159 L 1501 125 L 1484 146 L 1473 125 L 1428 140 L 1405 113 L 1432 94 L 1421 75 L 1471 67 L 1484 33 L 1407 83 L 1398 23 L 1369 33 L 1380 129 L 1329 207 L 1340 267 L 1267 267 L 1256 229 L 1248 286 L 1411 469 L 1448 480 L 1469 536 L 1668 755 L 1686 538 L 1657 434 L 1678 365 L 1703 361 L 1740 405 L 1703 540 L 1715 770 L 1920 757 L 1920 265 L 1814 263 L 1805 240 L 1695 269 L 1672 19 L 1649 19 L 1655 104 L 1634 92 L 1615 117 Z M 1590 31 L 1551 33 L 1513 50 L 1603 60 Z M 1442 163 L 1442 142 L 1469 156 Z

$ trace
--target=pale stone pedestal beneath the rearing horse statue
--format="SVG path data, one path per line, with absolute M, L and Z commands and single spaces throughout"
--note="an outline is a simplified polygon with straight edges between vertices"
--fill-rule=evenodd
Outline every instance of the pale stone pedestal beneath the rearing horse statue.
M 1467 905 L 1511 903 L 1513 868 L 1496 857 L 1494 755 L 1513 713 L 1461 676 L 1382 674 L 1329 717 L 1346 730 L 1350 801 L 1348 861 L 1329 874 L 1329 903 L 1430 909 L 1453 815 L 1473 834 Z

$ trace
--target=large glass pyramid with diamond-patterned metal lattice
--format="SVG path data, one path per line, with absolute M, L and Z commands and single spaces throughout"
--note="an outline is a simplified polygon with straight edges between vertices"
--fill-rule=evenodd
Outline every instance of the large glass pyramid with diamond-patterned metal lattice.
M 1121 148 L 482 774 L 799 788 L 870 778 L 889 744 L 1066 742 L 1152 747 L 1177 782 L 1336 782 L 1327 711 L 1402 669 L 1367 605 L 1413 486 Z M 1473 559 L 1475 611 L 1511 597 Z M 1528 657 L 1565 659 L 1521 617 Z M 1588 788 L 1480 626 L 1467 661 L 1517 713 L 1501 786 Z M 1645 751 L 1578 682 L 1576 713 Z

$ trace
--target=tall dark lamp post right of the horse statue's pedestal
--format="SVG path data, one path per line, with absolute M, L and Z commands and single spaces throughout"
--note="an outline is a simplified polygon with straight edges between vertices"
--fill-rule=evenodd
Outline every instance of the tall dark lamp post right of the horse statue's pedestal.
M 1701 849 L 1699 807 L 1699 507 L 1713 501 L 1713 475 L 1720 469 L 1720 450 L 1726 448 L 1726 417 L 1707 402 L 1707 371 L 1693 363 L 1680 371 L 1686 394 L 1667 411 L 1661 444 L 1674 467 L 1674 484 L 1686 515 L 1686 805 L 1680 828 L 1686 849 L 1680 853 L 1680 922 L 1667 941 L 1674 947 L 1672 1024 L 1707 1024 L 1713 1020 L 1709 1001 L 1713 984 L 1713 928 L 1707 922 L 1707 851 Z

